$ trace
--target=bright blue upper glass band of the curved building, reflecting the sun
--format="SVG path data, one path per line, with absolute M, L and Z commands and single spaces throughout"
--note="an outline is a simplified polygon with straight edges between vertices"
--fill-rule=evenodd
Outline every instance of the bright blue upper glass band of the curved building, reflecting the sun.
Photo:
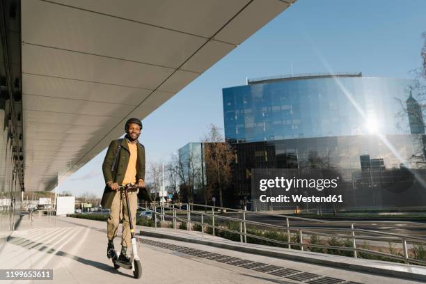
M 411 84 L 379 77 L 293 77 L 224 88 L 225 136 L 254 142 L 409 134 L 408 116 L 401 113 Z

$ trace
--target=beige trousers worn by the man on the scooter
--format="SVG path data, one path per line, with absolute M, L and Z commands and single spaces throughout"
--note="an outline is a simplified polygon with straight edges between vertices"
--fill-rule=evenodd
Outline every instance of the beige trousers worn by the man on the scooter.
M 138 189 L 139 191 L 139 189 Z M 132 213 L 132 224 L 133 228 L 136 226 L 136 210 L 138 207 L 138 191 L 127 191 L 129 196 L 129 205 Z M 108 239 L 113 239 L 117 236 L 118 226 L 120 220 L 123 219 L 123 234 L 121 235 L 121 245 L 130 247 L 132 242 L 130 241 L 130 226 L 129 216 L 127 216 L 127 203 L 125 193 L 123 190 L 116 191 L 113 202 L 111 204 L 111 213 L 107 221 L 107 235 Z

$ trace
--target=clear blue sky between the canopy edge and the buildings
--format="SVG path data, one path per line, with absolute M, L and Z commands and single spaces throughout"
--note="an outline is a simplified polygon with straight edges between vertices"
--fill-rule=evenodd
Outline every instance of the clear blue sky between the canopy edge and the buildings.
M 421 63 L 425 0 L 299 0 L 143 120 L 147 166 L 167 161 L 211 123 L 223 128 L 222 88 L 246 77 L 363 72 L 409 78 Z M 105 150 L 59 185 L 102 196 Z

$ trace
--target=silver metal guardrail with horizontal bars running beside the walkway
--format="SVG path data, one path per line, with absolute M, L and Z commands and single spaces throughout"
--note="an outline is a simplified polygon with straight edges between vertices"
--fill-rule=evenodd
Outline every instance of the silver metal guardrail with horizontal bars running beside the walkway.
M 186 209 L 181 209 L 183 207 L 186 207 Z M 203 207 L 205 210 L 209 210 L 209 213 L 207 212 L 200 212 L 195 211 L 195 207 Z M 160 212 L 157 212 L 157 207 L 159 207 Z M 173 230 L 175 232 L 178 229 L 177 221 L 180 221 L 181 223 L 187 223 L 187 230 L 191 230 L 191 224 L 198 224 L 201 226 L 201 236 L 204 237 L 205 234 L 205 228 L 212 228 L 212 235 L 216 235 L 216 230 L 226 231 L 226 232 L 232 232 L 237 235 L 239 235 L 239 242 L 242 244 L 247 244 L 247 237 L 251 237 L 253 239 L 261 239 L 267 242 L 273 242 L 276 244 L 285 245 L 288 248 L 292 248 L 292 246 L 297 246 L 301 249 L 301 251 L 304 250 L 304 248 L 326 248 L 326 249 L 333 249 L 336 251 L 352 251 L 354 258 L 358 258 L 358 253 L 368 253 L 371 255 L 380 255 L 382 257 L 386 258 L 392 258 L 394 260 L 400 260 L 402 262 L 405 262 L 407 264 L 416 264 L 416 265 L 426 265 L 425 260 L 418 260 L 411 258 L 409 255 L 408 250 L 408 244 L 421 244 L 426 245 L 426 239 L 422 237 L 413 237 L 409 235 L 402 235 L 402 234 L 395 234 L 392 232 L 379 232 L 377 230 L 365 230 L 365 229 L 358 229 L 355 228 L 356 224 L 359 223 L 415 223 L 415 222 L 393 222 L 393 221 L 325 221 L 325 220 L 317 220 L 317 219 L 308 219 L 303 217 L 297 217 L 297 216 L 287 216 L 287 215 L 278 215 L 273 214 L 276 216 L 280 216 L 285 218 L 285 226 L 279 226 L 279 225 L 273 225 L 269 223 L 262 223 L 258 221 L 249 221 L 246 220 L 246 207 L 244 207 L 244 210 L 236 210 L 234 208 L 226 208 L 226 207 L 217 207 L 217 206 L 210 206 L 210 205 L 200 205 L 200 204 L 194 204 L 194 203 L 180 203 L 177 204 L 168 204 L 168 203 L 152 203 L 151 207 L 153 210 L 150 210 L 146 207 L 139 207 L 145 211 L 149 211 L 153 213 L 153 216 L 155 218 L 155 229 L 157 229 L 157 223 L 161 224 L 161 228 L 163 227 L 163 223 L 166 218 L 171 218 L 171 221 L 173 223 Z M 173 211 L 172 214 L 165 214 L 165 210 Z M 211 213 L 210 213 L 211 210 Z M 230 217 L 230 216 L 223 216 L 217 214 L 217 210 L 223 211 L 232 211 L 232 212 L 239 212 L 242 214 L 242 219 Z M 185 213 L 186 218 L 178 217 L 178 212 Z M 200 216 L 200 221 L 191 220 L 191 214 L 194 216 L 194 214 Z M 160 217 L 159 221 L 157 220 L 157 215 Z M 205 217 L 210 218 L 207 222 L 205 222 Z M 239 223 L 239 230 L 232 230 L 230 228 L 225 228 L 223 226 L 220 226 L 219 220 L 225 220 L 225 221 L 233 221 Z M 349 228 L 327 228 L 324 226 L 319 227 L 309 227 L 309 226 L 290 226 L 290 220 L 297 220 L 297 221 L 315 221 L 317 223 L 320 223 L 321 225 L 327 225 L 327 226 L 333 226 L 336 224 L 341 225 L 342 223 L 347 223 Z M 211 222 L 211 223 L 210 223 Z M 415 223 L 419 226 L 426 226 L 423 223 Z M 264 237 L 260 235 L 253 235 L 247 232 L 247 225 L 253 225 L 253 226 L 260 226 L 264 228 L 272 228 L 276 230 L 281 230 L 283 232 L 287 232 L 287 241 L 279 241 L 277 239 L 271 239 L 269 237 Z M 346 233 L 346 234 L 345 234 Z M 297 235 L 297 238 L 299 238 L 296 242 L 294 240 L 292 241 L 291 235 Z M 325 245 L 325 244 L 310 244 L 303 242 L 303 237 L 306 235 L 318 235 L 323 237 L 336 237 L 339 239 L 351 239 L 352 240 L 352 247 L 348 246 L 331 246 L 331 245 Z M 384 253 L 381 251 L 372 251 L 368 248 L 359 248 L 356 246 L 356 241 L 367 241 L 367 240 L 373 240 L 377 242 L 387 242 L 388 244 L 401 244 L 402 245 L 402 252 L 403 255 L 393 255 L 391 253 Z

